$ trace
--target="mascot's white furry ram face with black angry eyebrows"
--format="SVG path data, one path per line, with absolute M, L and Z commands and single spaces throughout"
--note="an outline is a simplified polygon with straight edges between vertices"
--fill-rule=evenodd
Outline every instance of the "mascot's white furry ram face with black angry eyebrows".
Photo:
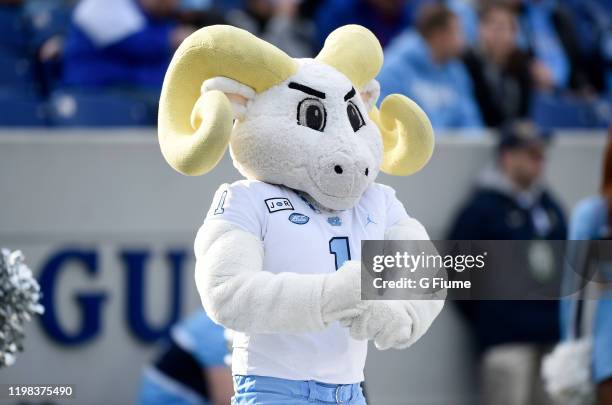
M 380 132 L 346 76 L 312 59 L 300 62 L 295 75 L 248 102 L 230 140 L 234 165 L 249 179 L 349 209 L 378 175 Z

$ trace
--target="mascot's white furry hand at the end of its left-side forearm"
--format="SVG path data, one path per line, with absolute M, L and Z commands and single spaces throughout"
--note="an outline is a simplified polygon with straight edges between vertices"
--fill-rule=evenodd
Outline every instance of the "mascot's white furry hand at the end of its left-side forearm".
M 349 260 L 328 275 L 323 283 L 322 317 L 329 325 L 339 319 L 352 319 L 366 308 L 361 301 L 361 262 Z

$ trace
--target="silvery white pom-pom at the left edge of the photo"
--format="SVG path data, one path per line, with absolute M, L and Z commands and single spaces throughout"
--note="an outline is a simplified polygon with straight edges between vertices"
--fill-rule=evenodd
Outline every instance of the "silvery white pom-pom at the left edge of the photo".
M 0 249 L 0 368 L 15 362 L 23 350 L 24 323 L 44 308 L 40 286 L 20 251 Z

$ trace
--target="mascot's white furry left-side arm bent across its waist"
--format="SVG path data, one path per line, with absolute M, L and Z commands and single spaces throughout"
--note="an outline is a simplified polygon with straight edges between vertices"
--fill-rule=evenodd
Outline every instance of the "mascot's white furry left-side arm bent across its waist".
M 205 223 L 195 241 L 196 284 L 217 323 L 248 333 L 322 330 L 359 312 L 360 264 L 330 274 L 263 270 L 259 238 L 228 221 Z M 314 269 L 316 270 L 316 269 Z

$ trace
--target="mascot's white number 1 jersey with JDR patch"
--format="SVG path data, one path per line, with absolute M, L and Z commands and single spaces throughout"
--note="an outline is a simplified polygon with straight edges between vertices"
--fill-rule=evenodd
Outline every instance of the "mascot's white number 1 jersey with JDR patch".
M 362 240 L 382 240 L 408 218 L 395 191 L 374 183 L 352 209 L 320 210 L 301 193 L 260 181 L 224 184 L 205 220 L 225 220 L 264 244 L 264 271 L 331 273 L 361 258 Z M 300 334 L 234 334 L 232 372 L 330 384 L 363 381 L 367 341 L 350 337 L 338 322 Z

